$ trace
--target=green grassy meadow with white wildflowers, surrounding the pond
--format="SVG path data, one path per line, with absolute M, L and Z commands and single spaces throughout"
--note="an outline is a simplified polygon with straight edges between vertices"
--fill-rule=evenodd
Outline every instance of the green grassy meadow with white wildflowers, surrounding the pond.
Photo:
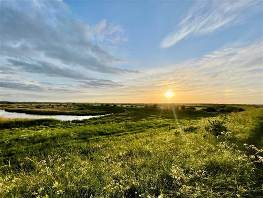
M 113 113 L 73 122 L 1 117 L 0 197 L 263 197 L 262 106 L 2 102 L 0 109 Z

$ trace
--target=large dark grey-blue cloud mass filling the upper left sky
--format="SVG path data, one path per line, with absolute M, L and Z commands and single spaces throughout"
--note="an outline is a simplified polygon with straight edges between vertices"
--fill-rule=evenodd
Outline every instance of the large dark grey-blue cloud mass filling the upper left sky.
M 73 19 L 63 1 L 2 2 L 1 55 L 9 59 L 31 57 L 49 66 L 56 62 L 99 73 L 136 72 L 114 66 L 124 60 L 99 44 L 123 42 L 123 35 L 120 25 L 106 20 L 91 27 Z

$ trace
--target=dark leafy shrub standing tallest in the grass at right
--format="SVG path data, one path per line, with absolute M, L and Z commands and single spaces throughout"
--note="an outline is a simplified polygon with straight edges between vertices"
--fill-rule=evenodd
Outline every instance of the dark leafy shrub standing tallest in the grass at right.
M 208 120 L 208 124 L 205 126 L 205 130 L 209 133 L 212 133 L 214 136 L 220 136 L 223 132 L 227 131 L 225 127 L 225 120 L 224 117 L 222 120 L 213 120 L 212 122 Z

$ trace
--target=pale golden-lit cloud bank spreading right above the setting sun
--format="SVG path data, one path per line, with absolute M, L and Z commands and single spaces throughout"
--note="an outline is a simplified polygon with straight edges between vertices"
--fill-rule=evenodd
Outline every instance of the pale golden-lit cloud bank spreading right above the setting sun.
M 177 102 L 262 103 L 262 46 L 262 41 L 228 44 L 199 60 L 148 69 L 126 77 L 116 92 L 148 96 L 150 102 L 172 90 Z

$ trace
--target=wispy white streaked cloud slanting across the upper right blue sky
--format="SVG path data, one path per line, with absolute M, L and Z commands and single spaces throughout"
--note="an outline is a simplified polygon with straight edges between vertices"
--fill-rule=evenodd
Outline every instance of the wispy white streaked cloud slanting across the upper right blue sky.
M 168 34 L 160 43 L 161 48 L 169 48 L 191 36 L 212 33 L 220 28 L 236 23 L 241 18 L 255 13 L 259 1 L 202 1 L 196 2 L 187 16 L 178 24 L 175 31 Z M 249 8 L 255 8 L 252 13 Z

